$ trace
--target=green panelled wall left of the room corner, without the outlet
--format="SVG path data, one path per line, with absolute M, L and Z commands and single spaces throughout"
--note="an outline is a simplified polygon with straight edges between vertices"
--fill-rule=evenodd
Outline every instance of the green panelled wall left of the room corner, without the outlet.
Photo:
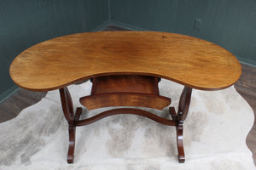
M 93 31 L 108 20 L 108 0 L 1 0 L 0 100 L 15 89 L 9 65 L 44 40 Z

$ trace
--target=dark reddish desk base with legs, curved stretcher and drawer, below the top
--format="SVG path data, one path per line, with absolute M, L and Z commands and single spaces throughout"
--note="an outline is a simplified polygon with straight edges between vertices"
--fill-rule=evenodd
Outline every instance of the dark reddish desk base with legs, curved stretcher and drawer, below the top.
M 91 94 L 80 98 L 80 103 L 86 106 L 88 110 L 108 106 L 140 106 L 163 110 L 163 108 L 171 104 L 171 99 L 160 96 L 158 88 L 159 81 L 160 78 L 145 76 L 96 77 L 92 80 L 93 86 Z M 148 111 L 132 108 L 104 111 L 96 116 L 79 120 L 82 108 L 77 108 L 74 113 L 73 102 L 67 87 L 61 88 L 60 94 L 62 110 L 69 125 L 67 162 L 73 163 L 76 127 L 88 125 L 101 120 L 104 117 L 118 114 L 145 116 L 155 122 L 168 126 L 175 126 L 177 130 L 177 157 L 179 162 L 184 162 L 183 122 L 188 116 L 191 92 L 192 88 L 184 87 L 180 96 L 178 110 L 175 111 L 174 107 L 169 108 L 172 120 L 156 116 Z

